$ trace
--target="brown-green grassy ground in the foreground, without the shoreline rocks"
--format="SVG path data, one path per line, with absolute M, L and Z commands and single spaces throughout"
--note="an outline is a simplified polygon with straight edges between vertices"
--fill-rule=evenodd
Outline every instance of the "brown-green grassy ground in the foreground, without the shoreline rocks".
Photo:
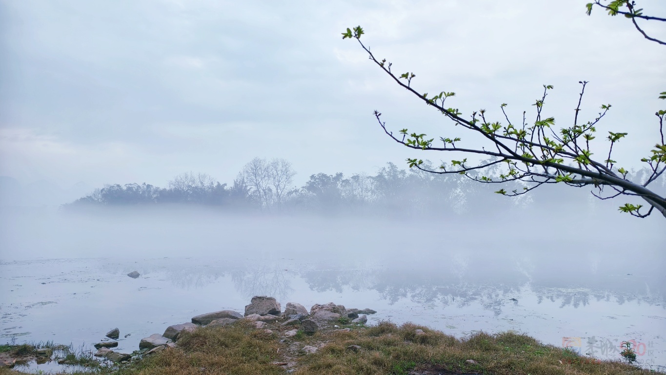
M 284 342 L 282 333 L 293 327 L 268 324 L 272 332 L 267 332 L 239 321 L 198 328 L 183 334 L 176 348 L 87 374 L 655 374 L 620 360 L 591 360 L 512 332 L 478 333 L 461 340 L 414 324 L 348 327 L 351 330 L 312 335 L 299 332 Z M 314 348 L 316 352 L 308 353 Z M 10 374 L 21 372 L 0 370 L 0 375 Z

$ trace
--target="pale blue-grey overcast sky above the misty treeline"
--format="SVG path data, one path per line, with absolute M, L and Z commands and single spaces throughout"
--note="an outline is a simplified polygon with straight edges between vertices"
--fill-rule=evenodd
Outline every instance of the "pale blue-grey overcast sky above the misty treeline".
M 375 109 L 394 130 L 466 139 L 341 39 L 355 25 L 378 57 L 416 73 L 418 91 L 455 91 L 466 115 L 502 120 L 508 103 L 519 122 L 551 84 L 545 113 L 569 125 L 578 81 L 590 81 L 581 115 L 611 103 L 599 139 L 629 133 L 613 159 L 637 166 L 666 107 L 666 48 L 627 19 L 587 17 L 587 1 L 0 0 L 0 175 L 164 186 L 193 171 L 231 183 L 253 157 L 282 157 L 301 185 L 408 156 L 454 159 L 382 134 Z M 640 3 L 666 16 L 666 1 Z

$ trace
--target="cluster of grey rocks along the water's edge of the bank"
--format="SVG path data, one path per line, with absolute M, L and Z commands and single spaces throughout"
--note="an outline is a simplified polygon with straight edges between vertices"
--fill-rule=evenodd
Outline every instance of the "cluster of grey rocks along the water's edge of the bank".
M 280 322 L 281 326 L 300 326 L 307 334 L 312 334 L 320 329 L 330 328 L 339 322 L 351 322 L 352 324 L 364 324 L 368 321 L 366 314 L 375 314 L 376 311 L 368 308 L 359 310 L 358 308 L 347 309 L 341 304 L 314 304 L 310 311 L 302 305 L 294 302 L 289 302 L 282 312 L 280 303 L 273 297 L 268 296 L 254 296 L 250 304 L 245 306 L 244 314 L 240 314 L 234 310 L 220 310 L 216 312 L 208 312 L 194 316 L 191 322 L 182 324 L 174 324 L 168 326 L 163 334 L 151 334 L 151 336 L 141 339 L 139 342 L 139 351 L 141 354 L 153 354 L 165 350 L 166 348 L 175 348 L 176 341 L 182 332 L 192 332 L 197 327 L 214 327 L 214 326 L 228 326 L 234 324 L 238 320 L 245 320 L 254 322 L 254 326 L 258 329 L 264 328 L 269 322 Z M 349 328 L 346 328 L 349 330 Z M 266 334 L 273 332 L 264 329 Z M 284 332 L 284 336 L 295 336 L 298 330 L 289 330 Z M 111 330 L 107 333 L 107 337 L 117 340 L 120 331 L 118 328 Z M 118 346 L 117 341 L 99 342 L 95 344 L 95 348 L 99 349 L 95 356 L 107 358 L 113 362 L 123 362 L 131 358 L 131 354 L 123 354 L 113 352 L 109 348 Z M 303 348 L 305 352 L 314 352 L 316 348 Z

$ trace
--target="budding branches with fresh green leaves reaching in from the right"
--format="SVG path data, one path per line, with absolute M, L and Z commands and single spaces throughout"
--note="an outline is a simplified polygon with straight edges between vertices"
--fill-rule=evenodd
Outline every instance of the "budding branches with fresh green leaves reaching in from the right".
M 613 0 L 607 3 L 607 1 L 598 0 L 587 4 L 587 13 L 589 14 L 595 6 L 607 9 L 611 15 L 625 15 L 625 17 L 631 19 L 635 27 L 647 39 L 659 44 L 665 44 L 663 41 L 647 36 L 639 27 L 636 20 L 666 21 L 666 19 L 643 15 L 642 9 L 635 7 L 635 1 Z M 627 11 L 623 11 L 623 7 L 626 7 Z M 462 139 L 457 137 L 440 137 L 438 140 L 440 144 L 436 146 L 434 138 L 428 139 L 425 134 L 409 131 L 408 129 L 402 129 L 398 132 L 398 135 L 394 135 L 392 131 L 386 128 L 386 123 L 380 119 L 382 114 L 374 111 L 376 120 L 388 137 L 401 145 L 415 150 L 443 151 L 445 153 L 454 152 L 465 155 L 492 157 L 492 159 L 480 163 L 468 162 L 467 158 L 452 160 L 451 165 L 442 164 L 437 169 L 425 167 L 424 161 L 421 159 L 407 159 L 410 168 L 415 167 L 422 171 L 440 175 L 460 174 L 472 181 L 486 184 L 506 184 L 511 182 L 522 184 L 521 187 L 515 190 L 507 191 L 504 188 L 500 188 L 500 190 L 495 191 L 498 194 L 508 196 L 525 194 L 545 184 L 560 183 L 571 187 L 592 186 L 594 187 L 592 194 L 597 196 L 597 198 L 609 199 L 616 196 L 636 196 L 645 200 L 650 206 L 649 210 L 644 212 L 641 211 L 641 208 L 643 208 L 641 204 L 634 205 L 627 203 L 619 207 L 621 212 L 628 212 L 637 217 L 645 217 L 651 214 L 653 210 L 657 210 L 666 217 L 665 195 L 648 188 L 651 183 L 657 181 L 666 171 L 666 144 L 663 129 L 666 111 L 660 110 L 655 113 L 659 122 L 657 145 L 650 151 L 651 155 L 641 159 L 641 162 L 646 163 L 649 168 L 649 175 L 645 176 L 644 179 L 631 179 L 629 171 L 622 167 L 618 168 L 617 162 L 611 159 L 613 146 L 621 141 L 627 133 L 609 131 L 606 137 L 607 141 L 609 141 L 608 149 L 597 151 L 597 154 L 604 155 L 605 159 L 603 157 L 601 159 L 593 159 L 592 157 L 594 153 L 590 147 L 590 141 L 595 139 L 594 134 L 597 131 L 599 121 L 605 117 L 611 105 L 601 105 L 601 111 L 594 119 L 586 122 L 579 120 L 581 101 L 585 93 L 585 86 L 587 85 L 586 81 L 579 82 L 581 84 L 581 92 L 578 98 L 578 105 L 575 109 L 573 125 L 562 127 L 559 131 L 553 129 L 555 127 L 555 118 L 546 117 L 542 113 L 547 93 L 553 89 L 551 85 L 543 85 L 543 95 L 539 99 L 536 99 L 533 104 L 536 107 L 536 116 L 532 122 L 527 121 L 525 112 L 523 112 L 523 119 L 521 119 L 520 123 L 512 122 L 505 113 L 505 103 L 500 105 L 501 117 L 502 121 L 506 121 L 505 125 L 502 125 L 500 121 L 490 119 L 489 114 L 484 109 L 473 112 L 465 118 L 458 109 L 448 107 L 448 105 L 445 106 L 446 100 L 454 97 L 455 93 L 442 91 L 439 94 L 429 97 L 428 93 L 416 91 L 411 85 L 412 79 L 416 75 L 411 72 L 402 74 L 394 73 L 392 63 L 387 62 L 386 59 L 377 59 L 370 52 L 370 49 L 360 41 L 362 35 L 364 35 L 364 31 L 358 26 L 354 27 L 354 29 L 347 29 L 342 33 L 342 39 L 356 39 L 362 49 L 368 53 L 370 60 L 382 69 L 384 73 L 388 74 L 398 85 L 416 95 L 426 105 L 445 115 L 446 119 L 452 121 L 454 125 L 460 125 L 464 129 L 468 129 L 470 133 L 480 135 L 484 139 L 485 144 L 475 147 L 474 145 L 466 145 Z M 666 92 L 661 93 L 659 99 L 666 99 Z M 498 167 L 499 165 L 503 165 L 499 176 L 493 177 L 484 173 L 489 168 Z M 604 191 L 605 188 L 610 190 L 610 194 Z

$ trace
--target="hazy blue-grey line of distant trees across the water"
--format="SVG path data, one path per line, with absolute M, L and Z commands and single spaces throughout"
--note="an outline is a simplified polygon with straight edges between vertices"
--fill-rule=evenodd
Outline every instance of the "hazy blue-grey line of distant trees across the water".
M 430 161 L 426 169 L 436 168 Z M 647 169 L 634 171 L 638 179 Z M 482 173 L 482 172 L 480 172 Z M 501 173 L 486 169 L 484 175 Z M 471 173 L 470 173 L 471 174 Z M 343 173 L 310 175 L 302 187 L 294 186 L 292 164 L 284 159 L 252 159 L 231 185 L 205 173 L 182 173 L 165 188 L 147 183 L 105 185 L 63 208 L 157 204 L 199 204 L 228 210 L 258 212 L 353 212 L 400 216 L 442 212 L 484 214 L 528 206 L 593 204 L 589 191 L 554 187 L 509 198 L 494 193 L 494 187 L 478 184 L 464 175 L 435 175 L 420 169 L 399 169 L 393 163 L 375 175 Z M 666 179 L 661 179 L 666 187 Z M 516 182 L 511 189 L 521 190 Z M 583 208 L 583 207 L 581 207 Z

